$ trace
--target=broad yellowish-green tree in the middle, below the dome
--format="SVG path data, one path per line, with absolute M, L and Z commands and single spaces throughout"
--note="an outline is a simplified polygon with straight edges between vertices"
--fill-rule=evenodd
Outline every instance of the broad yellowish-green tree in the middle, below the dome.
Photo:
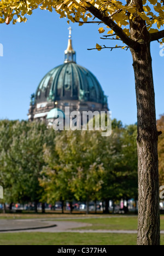
M 101 189 L 102 163 L 98 158 L 98 132 L 63 131 L 56 136 L 56 146 L 45 148 L 44 187 L 48 200 L 98 199 Z M 101 133 L 99 132 L 99 137 Z M 97 150 L 97 151 L 96 151 Z

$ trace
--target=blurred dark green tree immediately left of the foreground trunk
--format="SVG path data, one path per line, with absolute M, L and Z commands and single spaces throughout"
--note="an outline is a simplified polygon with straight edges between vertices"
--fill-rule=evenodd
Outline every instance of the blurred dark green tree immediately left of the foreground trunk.
M 113 120 L 112 135 L 106 138 L 102 147 L 101 161 L 104 167 L 102 199 L 109 200 L 134 198 L 137 200 L 137 126 L 123 127 L 120 121 Z M 106 148 L 106 152 L 103 149 Z

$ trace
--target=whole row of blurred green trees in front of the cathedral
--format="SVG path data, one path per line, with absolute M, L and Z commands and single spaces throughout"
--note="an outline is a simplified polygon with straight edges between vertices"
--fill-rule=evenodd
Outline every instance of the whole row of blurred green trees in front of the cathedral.
M 101 131 L 47 129 L 43 123 L 0 121 L 0 184 L 4 202 L 137 199 L 137 126 L 113 120 Z M 72 207 L 71 207 L 72 209 Z M 88 207 L 87 207 L 88 209 Z

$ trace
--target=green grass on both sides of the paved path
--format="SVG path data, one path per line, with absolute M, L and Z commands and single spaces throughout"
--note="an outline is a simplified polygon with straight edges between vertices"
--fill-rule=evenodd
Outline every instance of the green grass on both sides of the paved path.
M 11 216 L 10 216 L 11 217 Z M 29 216 L 30 218 L 32 216 Z M 54 216 L 53 216 L 54 217 Z M 59 216 L 57 216 L 59 217 Z M 67 216 L 68 217 L 68 216 Z M 70 216 L 69 216 L 70 217 Z M 103 218 L 64 219 L 64 221 L 90 223 L 92 226 L 81 229 L 137 230 L 137 217 L 115 216 Z M 81 216 L 82 217 L 82 216 Z M 97 217 L 97 218 L 96 218 Z M 28 218 L 26 216 L 26 218 Z M 43 218 L 43 216 L 42 216 Z M 46 216 L 44 216 L 46 219 Z M 66 218 L 66 216 L 65 216 Z M 56 221 L 59 221 L 56 219 Z M 55 218 L 54 218 L 55 222 Z M 78 228 L 79 229 L 79 228 Z M 161 217 L 161 230 L 164 230 L 164 217 Z M 108 233 L 42 233 L 20 232 L 0 234 L 0 245 L 136 245 L 136 234 Z M 161 235 L 161 245 L 164 245 L 164 235 Z

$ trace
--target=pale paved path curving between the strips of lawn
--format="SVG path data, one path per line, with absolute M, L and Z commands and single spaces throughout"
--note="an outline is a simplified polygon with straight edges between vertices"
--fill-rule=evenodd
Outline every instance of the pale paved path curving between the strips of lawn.
M 88 229 L 78 229 L 88 226 Z M 13 232 L 74 232 L 74 233 L 110 233 L 110 234 L 137 234 L 137 230 L 91 230 L 89 223 L 66 222 L 65 220 L 48 219 L 1 219 L 0 233 Z M 76 228 L 75 230 L 73 230 Z M 19 230 L 16 230 L 19 229 Z M 3 231 L 2 231 L 3 230 Z M 164 234 L 164 231 L 161 231 Z

